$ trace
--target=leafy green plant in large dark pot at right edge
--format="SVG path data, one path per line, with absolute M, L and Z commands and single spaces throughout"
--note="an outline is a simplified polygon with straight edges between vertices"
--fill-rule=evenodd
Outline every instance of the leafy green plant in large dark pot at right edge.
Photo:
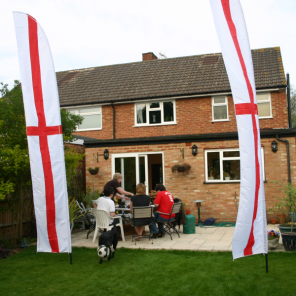
M 296 188 L 292 184 L 281 186 L 285 192 L 285 197 L 278 205 L 287 212 L 296 213 Z M 294 215 L 291 215 L 291 222 L 286 224 L 280 224 L 280 229 L 283 245 L 286 251 L 296 250 L 296 223 L 294 221 Z

